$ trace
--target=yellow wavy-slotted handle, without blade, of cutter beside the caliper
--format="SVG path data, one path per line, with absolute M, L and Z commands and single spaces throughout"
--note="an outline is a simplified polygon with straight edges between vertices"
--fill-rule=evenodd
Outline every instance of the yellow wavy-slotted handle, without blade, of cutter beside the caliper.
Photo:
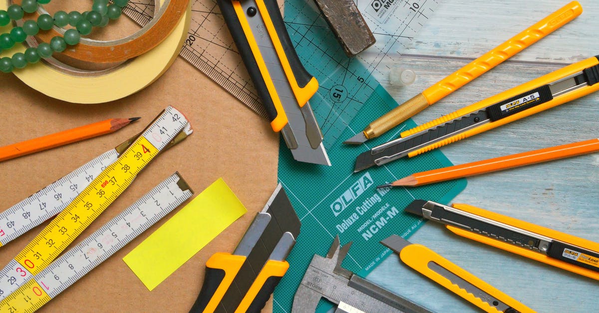
M 441 255 L 438 255 L 437 253 L 435 253 L 429 248 L 426 248 L 423 245 L 412 244 L 406 246 L 405 248 L 401 249 L 400 258 L 401 261 L 406 263 L 407 266 L 412 267 L 413 269 L 422 273 L 422 275 L 425 275 L 426 277 L 432 279 L 433 281 L 437 282 L 437 284 L 440 284 L 441 286 L 447 288 L 447 290 L 452 291 L 453 293 L 464 298 L 473 305 L 478 306 L 480 309 L 483 309 L 486 312 L 497 313 L 501 311 L 498 311 L 497 308 L 489 305 L 489 303 L 480 299 L 480 296 L 482 295 L 474 295 L 468 293 L 468 291 L 460 288 L 458 285 L 453 284 L 445 276 L 432 270 L 429 267 L 429 263 L 436 263 L 438 266 L 441 266 L 449 272 L 452 272 L 456 276 L 459 276 L 459 278 L 462 278 L 465 281 L 470 282 L 470 284 L 473 284 L 480 290 L 485 291 L 485 293 L 491 295 L 492 297 L 495 297 L 495 299 L 500 300 L 501 302 L 511 306 L 519 312 L 534 312 L 532 309 L 528 308 L 527 306 L 523 305 L 522 303 L 518 302 L 517 300 L 513 299 L 512 297 L 508 296 L 507 294 L 503 293 L 502 291 L 498 290 L 492 285 L 487 284 L 482 279 L 477 278 L 471 273 L 468 273 L 461 267 L 457 266 L 456 264 L 453 264 L 446 258 L 441 257 Z

